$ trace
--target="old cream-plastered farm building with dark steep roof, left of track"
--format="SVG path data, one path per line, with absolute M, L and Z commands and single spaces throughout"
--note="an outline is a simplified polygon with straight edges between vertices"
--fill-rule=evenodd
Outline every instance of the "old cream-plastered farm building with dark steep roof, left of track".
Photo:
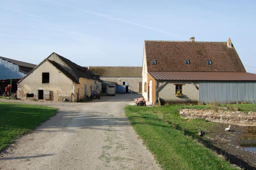
M 72 61 L 52 53 L 18 83 L 17 97 L 22 100 L 68 100 L 76 102 L 92 91 L 100 92 L 101 82 Z

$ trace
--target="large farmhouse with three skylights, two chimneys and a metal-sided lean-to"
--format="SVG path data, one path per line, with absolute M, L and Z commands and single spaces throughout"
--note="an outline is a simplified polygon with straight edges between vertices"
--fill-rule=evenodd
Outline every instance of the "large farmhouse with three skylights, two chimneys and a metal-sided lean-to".
M 144 43 L 142 94 L 151 103 L 256 103 L 256 74 L 227 42 Z

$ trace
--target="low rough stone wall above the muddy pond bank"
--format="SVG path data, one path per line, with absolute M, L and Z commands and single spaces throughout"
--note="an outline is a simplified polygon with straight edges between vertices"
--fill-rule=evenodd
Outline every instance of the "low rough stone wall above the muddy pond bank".
M 256 112 L 183 109 L 180 110 L 180 116 L 187 119 L 204 118 L 206 121 L 211 122 L 256 126 Z

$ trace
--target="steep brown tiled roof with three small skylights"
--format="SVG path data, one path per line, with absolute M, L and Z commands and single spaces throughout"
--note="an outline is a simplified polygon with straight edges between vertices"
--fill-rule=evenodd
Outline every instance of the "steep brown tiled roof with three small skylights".
M 246 72 L 235 48 L 229 48 L 227 42 L 145 40 L 145 51 L 148 71 Z

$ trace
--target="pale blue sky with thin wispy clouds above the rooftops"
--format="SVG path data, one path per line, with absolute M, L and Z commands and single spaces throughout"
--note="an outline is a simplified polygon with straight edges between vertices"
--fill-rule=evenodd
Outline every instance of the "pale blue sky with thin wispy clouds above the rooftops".
M 144 40 L 227 41 L 256 73 L 256 1 L 0 1 L 0 56 L 39 64 L 142 66 Z

